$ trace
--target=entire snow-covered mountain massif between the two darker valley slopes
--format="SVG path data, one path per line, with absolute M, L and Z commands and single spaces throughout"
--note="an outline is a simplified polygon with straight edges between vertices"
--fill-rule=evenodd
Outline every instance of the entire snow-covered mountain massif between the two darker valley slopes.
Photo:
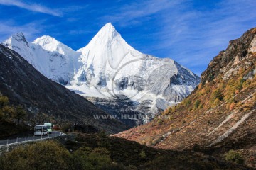
M 111 23 L 78 51 L 50 36 L 27 42 L 22 33 L 2 44 L 49 79 L 82 96 L 133 101 L 135 110 L 141 112 L 139 108 L 147 106 L 142 112 L 149 115 L 181 101 L 200 81 L 174 60 L 135 50 Z

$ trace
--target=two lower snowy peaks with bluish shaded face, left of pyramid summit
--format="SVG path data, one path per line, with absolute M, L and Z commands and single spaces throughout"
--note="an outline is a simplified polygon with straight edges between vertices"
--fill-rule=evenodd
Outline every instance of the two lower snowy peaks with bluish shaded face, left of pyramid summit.
M 73 77 L 73 60 L 78 60 L 78 52 L 50 36 L 27 42 L 23 33 L 17 33 L 2 44 L 18 52 L 41 74 L 53 81 L 68 84 Z

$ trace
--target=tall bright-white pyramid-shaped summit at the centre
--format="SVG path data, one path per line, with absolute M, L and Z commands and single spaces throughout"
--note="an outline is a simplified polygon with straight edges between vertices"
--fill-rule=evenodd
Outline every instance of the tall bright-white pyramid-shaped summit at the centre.
M 94 67 L 94 74 L 104 73 L 106 64 L 109 64 L 112 69 L 117 69 L 124 58 L 142 55 L 127 44 L 111 23 L 105 24 L 89 44 L 78 52 L 82 52 L 82 61 L 87 66 L 97 66 L 97 68 Z

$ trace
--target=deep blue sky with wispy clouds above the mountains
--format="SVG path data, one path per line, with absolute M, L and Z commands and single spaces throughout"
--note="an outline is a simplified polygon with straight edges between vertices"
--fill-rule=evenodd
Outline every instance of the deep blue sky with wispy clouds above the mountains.
M 0 41 L 50 35 L 78 50 L 111 22 L 129 45 L 200 75 L 229 40 L 256 26 L 255 0 L 0 0 Z

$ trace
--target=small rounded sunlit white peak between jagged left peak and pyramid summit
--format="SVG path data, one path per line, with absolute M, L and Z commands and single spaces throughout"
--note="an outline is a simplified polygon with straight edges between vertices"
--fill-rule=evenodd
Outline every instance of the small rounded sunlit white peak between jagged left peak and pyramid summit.
M 73 52 L 70 47 L 49 35 L 43 35 L 41 38 L 36 38 L 36 40 L 33 41 L 33 44 L 40 45 L 44 50 L 58 52 L 62 55 L 68 55 L 70 52 Z

